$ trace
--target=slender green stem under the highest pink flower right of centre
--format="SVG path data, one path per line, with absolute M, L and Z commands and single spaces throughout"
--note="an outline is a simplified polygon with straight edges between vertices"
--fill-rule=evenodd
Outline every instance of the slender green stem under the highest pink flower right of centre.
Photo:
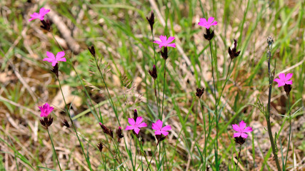
M 216 150 L 215 150 L 215 164 L 216 170 L 219 171 L 219 161 L 218 161 L 218 113 L 217 113 L 217 99 L 216 99 L 216 86 L 215 86 L 215 78 L 214 78 L 214 61 L 213 61 L 213 52 L 211 48 L 211 41 L 209 41 L 210 51 L 211 51 L 211 69 L 212 69 L 212 78 L 213 78 L 213 86 L 214 86 L 214 98 L 215 98 L 215 116 L 216 116 Z

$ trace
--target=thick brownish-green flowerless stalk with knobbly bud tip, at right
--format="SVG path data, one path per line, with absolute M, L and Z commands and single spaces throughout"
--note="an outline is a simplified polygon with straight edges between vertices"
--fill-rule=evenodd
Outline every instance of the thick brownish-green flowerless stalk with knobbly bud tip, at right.
M 273 43 L 273 40 L 269 41 L 269 42 Z M 271 103 L 272 83 L 274 81 L 274 71 L 271 73 L 271 69 L 270 69 L 272 43 L 269 43 L 269 46 L 267 48 L 267 53 L 266 53 L 267 54 L 267 60 L 268 60 L 269 95 L 268 95 L 268 104 L 267 104 L 267 111 L 265 113 L 265 118 L 266 118 L 266 122 L 267 122 L 267 128 L 268 128 L 269 139 L 270 139 L 270 142 L 271 142 L 271 148 L 272 148 L 272 152 L 274 154 L 274 160 L 276 162 L 277 170 L 280 171 L 281 166 L 279 165 L 279 157 L 277 156 L 276 145 L 275 145 L 275 142 L 274 142 L 274 137 L 272 135 L 271 122 L 270 122 L 270 103 Z

